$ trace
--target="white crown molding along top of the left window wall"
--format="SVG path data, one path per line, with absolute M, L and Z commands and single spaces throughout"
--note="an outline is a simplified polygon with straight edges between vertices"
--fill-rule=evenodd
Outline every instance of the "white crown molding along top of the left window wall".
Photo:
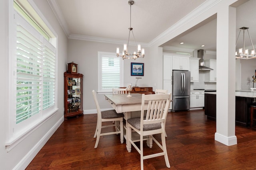
M 58 3 L 56 2 L 56 0 L 47 0 L 47 2 L 50 5 L 50 7 L 52 8 L 52 11 L 54 12 L 57 20 L 59 21 L 60 26 L 62 27 L 64 33 L 68 37 L 70 35 L 70 31 L 68 29 L 68 24 L 66 23 L 66 20 L 64 19 L 64 16 L 60 10 Z

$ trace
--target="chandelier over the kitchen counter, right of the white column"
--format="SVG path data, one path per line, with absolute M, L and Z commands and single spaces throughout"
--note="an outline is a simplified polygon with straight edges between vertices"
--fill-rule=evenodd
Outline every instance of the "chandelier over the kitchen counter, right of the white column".
M 252 44 L 252 39 L 251 39 L 250 33 L 249 33 L 249 31 L 248 31 L 249 28 L 248 28 L 248 27 L 242 27 L 242 28 L 240 28 L 238 37 L 239 37 L 239 35 L 240 35 L 241 30 L 243 30 L 243 48 L 240 48 L 238 52 L 236 51 L 236 59 L 254 59 L 254 58 L 256 58 L 256 54 L 255 54 L 255 50 L 254 50 L 253 44 L 252 44 L 252 51 L 251 51 L 251 54 L 250 54 L 250 55 L 249 55 L 248 49 L 245 49 L 244 31 L 245 31 L 246 29 L 247 29 L 247 32 L 248 32 L 248 35 L 249 35 L 249 38 L 250 38 L 250 41 L 251 41 L 251 44 Z M 237 37 L 237 39 L 236 39 L 236 44 L 237 44 L 237 41 L 238 41 L 238 37 Z

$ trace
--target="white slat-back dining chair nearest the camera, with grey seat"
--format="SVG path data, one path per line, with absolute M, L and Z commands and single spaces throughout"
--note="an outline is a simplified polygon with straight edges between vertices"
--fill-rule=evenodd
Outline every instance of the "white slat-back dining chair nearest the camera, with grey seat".
M 166 117 L 171 102 L 171 94 L 142 94 L 141 117 L 131 118 L 127 120 L 127 141 L 126 147 L 128 152 L 131 152 L 133 145 L 134 148 L 140 153 L 140 168 L 143 170 L 143 160 L 154 158 L 157 156 L 164 156 L 166 166 L 170 168 L 170 162 L 167 155 L 166 141 L 165 141 L 165 123 Z M 148 107 L 146 106 L 148 105 Z M 144 117 L 144 110 L 146 116 Z M 140 135 L 139 140 L 132 140 L 133 133 Z M 153 137 L 155 134 L 161 134 L 162 145 Z M 147 138 L 143 138 L 148 136 Z M 154 141 L 160 149 L 159 153 L 143 155 L 143 141 Z M 135 142 L 140 142 L 140 149 Z M 150 142 L 152 143 L 152 142 Z

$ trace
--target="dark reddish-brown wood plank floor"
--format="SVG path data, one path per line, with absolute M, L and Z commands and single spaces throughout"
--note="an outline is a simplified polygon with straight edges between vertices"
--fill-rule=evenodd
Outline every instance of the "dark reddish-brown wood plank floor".
M 119 135 L 93 138 L 96 114 L 64 121 L 26 170 L 139 170 L 140 155 L 120 143 Z M 256 128 L 236 127 L 238 145 L 226 146 L 214 140 L 216 122 L 207 120 L 204 110 L 170 112 L 166 121 L 166 145 L 171 170 L 256 169 Z M 157 136 L 158 137 L 158 136 Z M 125 143 L 125 142 L 124 142 Z M 144 145 L 144 152 L 157 150 Z M 168 169 L 164 157 L 144 160 L 145 170 Z

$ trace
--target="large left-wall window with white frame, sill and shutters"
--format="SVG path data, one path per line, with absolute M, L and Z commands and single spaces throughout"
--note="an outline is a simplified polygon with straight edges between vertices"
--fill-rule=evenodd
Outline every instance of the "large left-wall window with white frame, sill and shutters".
M 24 1 L 25 2 L 25 1 Z M 14 9 L 19 6 L 14 2 Z M 34 21 L 14 10 L 10 62 L 12 63 L 10 129 L 7 146 L 35 128 L 57 110 L 56 48 Z M 40 21 L 42 22 L 42 20 Z M 44 31 L 47 32 L 47 31 Z M 50 32 L 47 35 L 53 35 Z M 14 107 L 13 107 L 14 106 Z M 17 142 L 16 142 L 17 143 Z M 14 143 L 14 145 L 16 145 Z M 12 145 L 10 148 L 13 148 Z M 9 149 L 10 149 L 9 148 Z M 9 150 L 8 149 L 8 150 Z

